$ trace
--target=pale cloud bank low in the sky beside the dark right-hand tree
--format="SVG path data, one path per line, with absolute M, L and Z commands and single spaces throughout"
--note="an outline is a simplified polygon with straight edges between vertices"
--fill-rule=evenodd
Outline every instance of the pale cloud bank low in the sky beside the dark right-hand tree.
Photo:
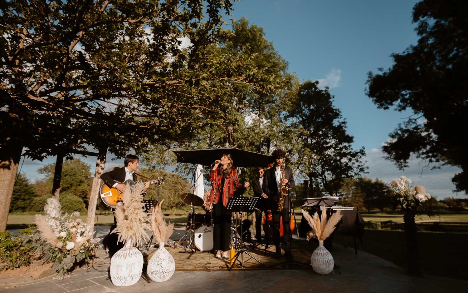
M 379 178 L 384 182 L 391 182 L 404 175 L 412 180 L 415 185 L 423 185 L 427 192 L 441 200 L 446 197 L 466 198 L 463 193 L 453 193 L 455 186 L 452 183 L 452 177 L 455 173 L 461 172 L 461 169 L 453 166 L 442 166 L 440 169 L 431 170 L 433 165 L 424 167 L 426 164 L 418 159 L 410 159 L 409 167 L 404 171 L 399 170 L 391 161 L 384 159 L 385 154 L 381 149 L 373 148 L 367 151 L 365 160 L 369 167 L 369 173 L 365 174 L 368 178 Z M 423 170 L 424 168 L 424 170 Z M 422 172 L 422 173 L 421 173 Z

